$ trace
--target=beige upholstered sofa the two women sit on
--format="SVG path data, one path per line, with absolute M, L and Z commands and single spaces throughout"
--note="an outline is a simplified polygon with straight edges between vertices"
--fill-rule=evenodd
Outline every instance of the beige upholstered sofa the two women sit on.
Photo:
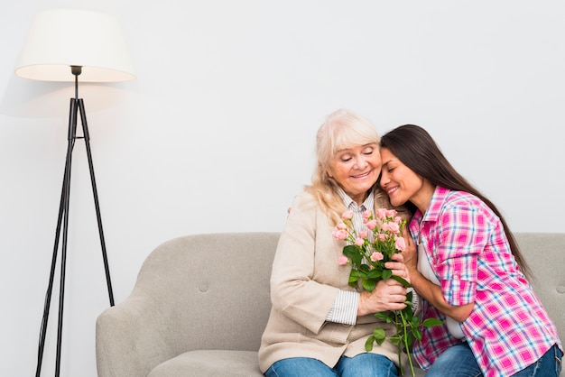
M 97 318 L 98 376 L 261 376 L 257 349 L 271 307 L 278 238 L 198 234 L 158 246 L 131 295 Z M 516 238 L 563 338 L 565 234 Z

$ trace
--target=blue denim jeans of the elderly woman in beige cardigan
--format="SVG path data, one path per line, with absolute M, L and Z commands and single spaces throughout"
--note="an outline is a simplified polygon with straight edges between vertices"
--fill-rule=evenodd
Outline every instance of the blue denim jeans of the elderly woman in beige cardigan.
M 273 363 L 264 375 L 266 377 L 398 377 L 398 368 L 382 354 L 341 356 L 333 368 L 310 357 L 292 357 Z

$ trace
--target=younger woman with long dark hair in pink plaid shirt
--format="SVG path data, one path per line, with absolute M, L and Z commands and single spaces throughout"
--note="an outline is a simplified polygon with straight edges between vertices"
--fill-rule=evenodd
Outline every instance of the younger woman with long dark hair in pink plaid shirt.
M 422 315 L 444 322 L 424 328 L 414 345 L 426 375 L 559 376 L 557 329 L 496 206 L 420 126 L 384 134 L 381 159 L 380 185 L 391 204 L 414 209 L 410 231 L 418 258 L 404 259 L 424 301 Z

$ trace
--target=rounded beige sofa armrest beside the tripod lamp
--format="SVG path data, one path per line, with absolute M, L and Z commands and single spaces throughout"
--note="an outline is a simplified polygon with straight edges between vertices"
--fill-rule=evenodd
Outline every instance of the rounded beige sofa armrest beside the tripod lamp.
M 139 377 L 171 358 L 162 317 L 151 299 L 134 295 L 102 312 L 96 326 L 98 376 Z

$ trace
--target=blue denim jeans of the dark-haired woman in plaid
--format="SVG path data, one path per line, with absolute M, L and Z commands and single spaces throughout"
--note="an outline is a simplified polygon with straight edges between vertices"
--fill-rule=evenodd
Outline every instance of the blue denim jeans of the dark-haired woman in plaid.
M 514 377 L 559 377 L 561 351 L 553 345 L 537 362 L 514 374 Z M 450 346 L 431 365 L 426 377 L 480 377 L 483 373 L 467 343 Z

